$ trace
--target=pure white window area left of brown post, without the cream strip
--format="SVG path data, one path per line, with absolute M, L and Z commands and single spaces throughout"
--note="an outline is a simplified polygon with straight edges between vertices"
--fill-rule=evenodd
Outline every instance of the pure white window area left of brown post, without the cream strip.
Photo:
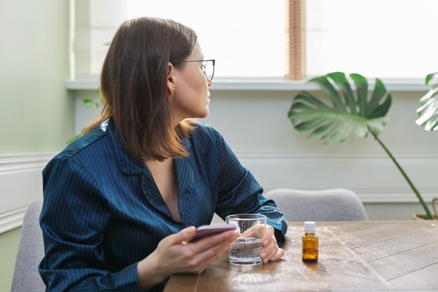
M 170 18 L 199 36 L 215 77 L 285 75 L 283 0 L 127 0 L 128 18 Z

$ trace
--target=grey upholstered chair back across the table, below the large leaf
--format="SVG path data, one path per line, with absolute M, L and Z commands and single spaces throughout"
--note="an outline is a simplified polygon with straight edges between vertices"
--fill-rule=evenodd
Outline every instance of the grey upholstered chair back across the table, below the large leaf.
M 288 221 L 365 221 L 367 211 L 351 190 L 293 190 L 278 188 L 266 193 Z

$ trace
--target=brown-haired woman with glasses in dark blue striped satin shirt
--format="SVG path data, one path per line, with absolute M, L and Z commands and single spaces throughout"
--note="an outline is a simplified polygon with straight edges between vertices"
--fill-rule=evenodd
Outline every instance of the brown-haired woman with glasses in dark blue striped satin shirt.
M 49 291 L 162 291 L 171 274 L 202 272 L 238 236 L 190 242 L 214 212 L 265 214 L 262 260 L 283 256 L 283 214 L 216 130 L 188 120 L 209 114 L 203 59 L 178 22 L 139 18 L 116 32 L 102 117 L 43 170 Z

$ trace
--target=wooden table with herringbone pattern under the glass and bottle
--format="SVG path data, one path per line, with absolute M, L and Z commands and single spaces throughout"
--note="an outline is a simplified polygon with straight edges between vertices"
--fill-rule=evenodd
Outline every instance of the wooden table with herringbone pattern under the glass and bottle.
M 301 259 L 291 222 L 282 260 L 241 267 L 225 253 L 202 274 L 176 274 L 165 292 L 438 291 L 438 221 L 317 222 L 319 260 Z

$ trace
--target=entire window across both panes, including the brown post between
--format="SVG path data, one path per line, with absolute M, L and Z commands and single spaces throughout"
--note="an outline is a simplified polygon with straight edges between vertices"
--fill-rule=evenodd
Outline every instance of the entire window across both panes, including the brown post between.
M 438 71 L 435 0 L 75 3 L 76 78 L 97 76 L 115 29 L 139 16 L 195 29 L 205 57 L 216 59 L 215 78 L 307 79 L 330 71 L 424 78 Z

